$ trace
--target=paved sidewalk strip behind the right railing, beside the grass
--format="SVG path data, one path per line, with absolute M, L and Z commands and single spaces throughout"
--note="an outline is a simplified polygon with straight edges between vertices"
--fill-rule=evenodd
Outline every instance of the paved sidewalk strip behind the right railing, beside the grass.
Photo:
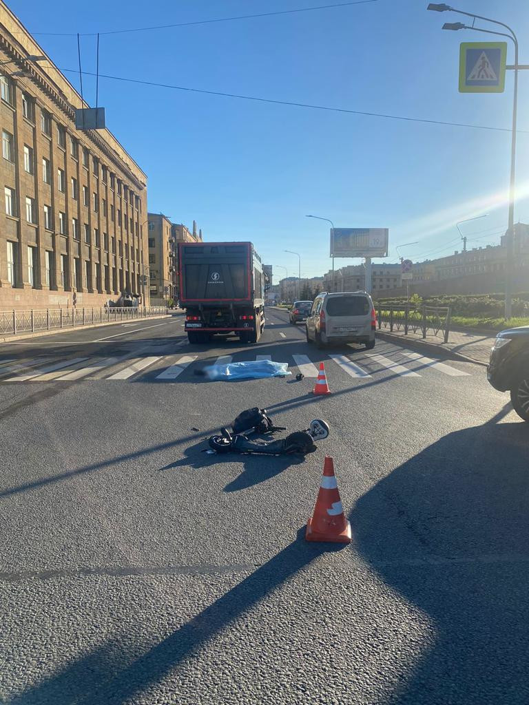
M 387 341 L 399 341 L 399 343 L 412 343 L 415 348 L 427 348 L 429 350 L 444 350 L 446 353 L 460 357 L 463 360 L 470 360 L 476 364 L 487 364 L 490 357 L 490 348 L 494 345 L 494 333 L 466 333 L 463 331 L 450 331 L 449 342 L 444 343 L 442 331 L 437 336 L 433 331 L 427 331 L 425 339 L 422 338 L 422 331 L 409 331 L 404 335 L 403 329 L 389 332 L 387 328 L 377 329 L 377 336 Z

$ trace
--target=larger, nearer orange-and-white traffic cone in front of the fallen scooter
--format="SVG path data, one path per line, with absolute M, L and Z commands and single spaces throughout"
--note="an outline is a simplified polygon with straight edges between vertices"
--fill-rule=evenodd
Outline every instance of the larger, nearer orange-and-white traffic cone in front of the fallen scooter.
M 308 520 L 307 541 L 334 541 L 339 544 L 351 542 L 351 524 L 343 514 L 338 484 L 334 475 L 334 464 L 325 456 L 322 482 L 318 492 L 314 515 Z

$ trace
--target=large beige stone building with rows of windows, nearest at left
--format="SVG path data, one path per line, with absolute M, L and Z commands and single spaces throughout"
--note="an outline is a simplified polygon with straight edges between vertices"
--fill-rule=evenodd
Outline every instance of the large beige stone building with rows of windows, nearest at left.
M 1 1 L 0 89 L 0 309 L 148 303 L 147 177 Z

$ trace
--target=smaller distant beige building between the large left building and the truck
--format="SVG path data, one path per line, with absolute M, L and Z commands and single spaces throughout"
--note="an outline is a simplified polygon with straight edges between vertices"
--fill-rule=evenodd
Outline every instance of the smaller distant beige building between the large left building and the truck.
M 178 300 L 178 242 L 201 242 L 202 231 L 197 233 L 195 221 L 193 231 L 189 231 L 183 223 L 171 223 L 162 213 L 149 213 L 148 219 L 151 300 L 155 304 Z

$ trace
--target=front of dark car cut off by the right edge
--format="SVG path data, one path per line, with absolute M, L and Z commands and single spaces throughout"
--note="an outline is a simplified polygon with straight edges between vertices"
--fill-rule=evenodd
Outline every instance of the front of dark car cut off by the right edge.
M 487 379 L 494 389 L 511 392 L 514 410 L 529 422 L 529 326 L 498 333 L 490 353 Z

